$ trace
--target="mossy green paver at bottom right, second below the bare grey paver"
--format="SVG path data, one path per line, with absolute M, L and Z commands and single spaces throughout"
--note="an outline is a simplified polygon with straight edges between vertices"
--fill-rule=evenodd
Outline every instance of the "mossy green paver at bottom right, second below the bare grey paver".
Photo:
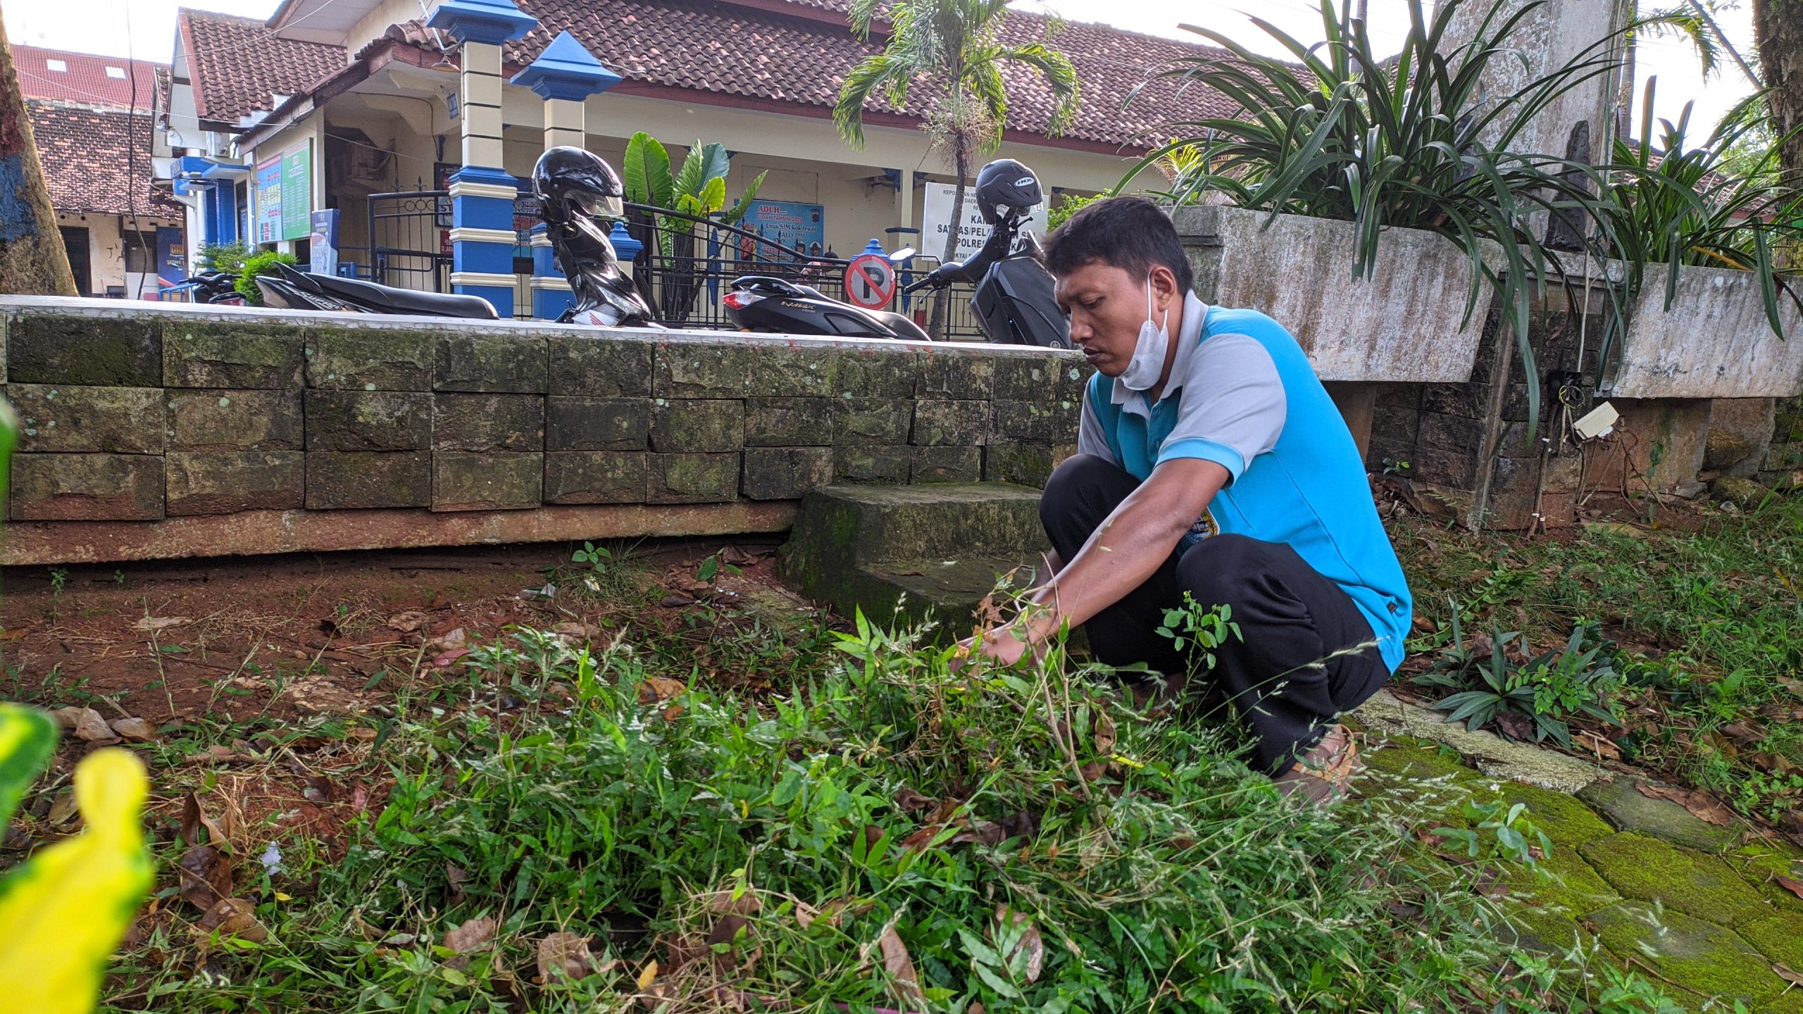
M 1785 982 L 1771 962 L 1733 929 L 1666 911 L 1652 926 L 1643 904 L 1625 902 L 1590 915 L 1612 954 L 1635 960 L 1661 978 L 1704 996 L 1720 996 L 1771 1010 L 1765 1003 L 1783 992 Z

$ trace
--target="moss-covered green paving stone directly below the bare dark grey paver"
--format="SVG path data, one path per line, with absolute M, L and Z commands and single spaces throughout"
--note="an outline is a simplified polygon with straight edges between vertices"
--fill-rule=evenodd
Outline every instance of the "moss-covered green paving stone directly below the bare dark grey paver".
M 1725 861 L 1623 832 L 1579 846 L 1597 873 L 1617 891 L 1668 909 L 1738 926 L 1771 908 Z

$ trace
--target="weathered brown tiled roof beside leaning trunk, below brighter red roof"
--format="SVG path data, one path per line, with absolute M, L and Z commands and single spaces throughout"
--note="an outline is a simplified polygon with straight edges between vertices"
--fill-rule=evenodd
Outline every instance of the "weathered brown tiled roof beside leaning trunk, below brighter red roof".
M 43 159 L 50 207 L 96 215 L 153 215 L 180 218 L 184 207 L 150 186 L 150 144 L 155 123 L 148 112 L 103 112 L 69 103 L 25 101 L 31 132 Z M 126 170 L 126 150 L 132 168 Z M 128 202 L 126 195 L 133 200 Z

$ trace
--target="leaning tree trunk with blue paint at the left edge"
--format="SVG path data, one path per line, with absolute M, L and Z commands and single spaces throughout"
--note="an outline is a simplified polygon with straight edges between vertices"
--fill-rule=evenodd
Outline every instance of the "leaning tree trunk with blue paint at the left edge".
M 56 231 L 50 191 L 43 184 L 43 162 L 25 117 L 25 99 L 18 90 L 18 70 L 0 23 L 0 188 L 16 202 L 9 222 L 0 222 L 0 292 L 27 296 L 74 296 L 76 278 L 69 272 L 69 251 Z

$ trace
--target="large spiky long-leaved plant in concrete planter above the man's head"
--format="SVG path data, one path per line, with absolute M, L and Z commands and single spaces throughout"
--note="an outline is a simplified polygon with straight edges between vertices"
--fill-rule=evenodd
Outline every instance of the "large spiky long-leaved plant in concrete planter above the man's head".
M 1455 14 L 1486 4 L 1473 41 L 1451 47 Z M 1287 51 L 1262 56 L 1222 32 L 1188 27 L 1233 54 L 1176 61 L 1159 78 L 1203 85 L 1237 103 L 1231 117 L 1163 124 L 1154 148 L 1116 186 L 1149 168 L 1165 170 L 1163 197 L 1177 204 L 1226 202 L 1278 215 L 1338 218 L 1358 226 L 1356 267 L 1372 278 L 1387 229 L 1439 233 L 1469 254 L 1466 318 L 1489 287 L 1502 298 L 1527 381 L 1529 419 L 1540 417 L 1540 370 L 1527 341 L 1533 300 L 1565 274 L 1561 253 L 1529 227 L 1538 213 L 1583 224 L 1594 253 L 1615 249 L 1615 217 L 1594 168 L 1551 155 L 1516 153 L 1536 115 L 1612 69 L 1614 36 L 1515 92 L 1484 101 L 1493 61 L 1540 4 L 1507 11 L 1504 0 L 1446 0 L 1428 14 L 1408 0 L 1401 52 L 1374 47 L 1363 20 L 1320 4 L 1323 40 L 1307 45 L 1253 18 Z M 1491 85 L 1493 87 L 1493 85 Z M 1268 222 L 1269 222 L 1268 220 Z M 1500 263 L 1489 251 L 1500 247 Z M 1623 303 L 1612 294 L 1615 318 Z

